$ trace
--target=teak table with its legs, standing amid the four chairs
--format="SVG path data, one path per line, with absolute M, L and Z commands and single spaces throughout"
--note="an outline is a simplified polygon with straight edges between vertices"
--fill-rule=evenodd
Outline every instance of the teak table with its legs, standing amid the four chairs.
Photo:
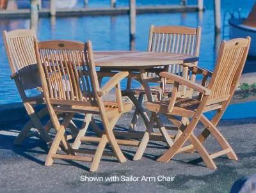
M 137 72 L 138 77 L 143 88 L 145 89 L 145 94 L 147 96 L 148 102 L 153 101 L 152 93 L 150 91 L 150 86 L 147 81 L 147 70 L 154 69 L 159 66 L 169 66 L 169 65 L 182 65 L 186 64 L 188 66 L 194 66 L 195 62 L 198 61 L 198 57 L 189 56 L 187 54 L 173 54 L 166 52 L 136 52 L 136 51 L 95 51 L 93 52 L 95 65 L 100 67 L 100 71 L 111 72 L 111 71 L 128 71 L 130 74 Z M 159 69 L 159 68 L 158 68 Z M 164 68 L 166 69 L 166 68 Z M 163 69 L 163 70 L 164 70 Z M 134 96 L 134 98 L 136 98 Z M 134 101 L 132 101 L 134 103 Z M 135 104 L 135 103 L 134 103 Z M 147 112 L 143 107 L 140 107 L 139 113 L 143 118 L 146 128 L 150 124 L 150 119 L 147 116 Z M 151 116 L 158 120 L 158 115 L 152 112 Z M 161 121 L 157 121 L 157 126 L 159 128 L 163 127 Z M 144 132 L 138 132 L 129 130 L 128 132 L 114 132 L 116 136 L 119 137 L 131 137 L 132 139 L 142 139 Z M 165 134 L 151 133 L 150 137 L 153 137 L 156 141 L 166 141 L 168 139 L 168 144 L 173 143 L 172 139 L 166 137 Z M 149 140 L 149 137 L 148 137 Z

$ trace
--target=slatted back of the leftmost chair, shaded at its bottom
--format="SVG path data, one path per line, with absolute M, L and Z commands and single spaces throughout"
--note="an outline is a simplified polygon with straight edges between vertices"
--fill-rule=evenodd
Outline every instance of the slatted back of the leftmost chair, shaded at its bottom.
M 12 75 L 23 74 L 19 76 L 20 85 L 23 89 L 40 86 L 33 47 L 34 39 L 36 40 L 36 33 L 33 29 L 3 31 L 4 46 Z

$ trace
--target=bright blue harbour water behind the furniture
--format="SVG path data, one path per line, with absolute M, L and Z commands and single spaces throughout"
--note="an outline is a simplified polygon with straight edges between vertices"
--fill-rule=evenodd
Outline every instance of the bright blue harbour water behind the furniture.
M 117 0 L 117 6 L 127 6 L 129 1 Z M 140 5 L 170 4 L 168 0 L 137 0 Z M 138 15 L 136 22 L 136 50 L 146 50 L 148 40 L 148 28 L 150 24 L 161 25 L 182 25 L 182 26 L 202 26 L 202 44 L 200 49 L 200 66 L 212 70 L 216 58 L 214 45 L 214 17 L 212 1 L 204 1 L 206 11 L 200 15 L 198 13 L 157 13 Z M 179 0 L 172 1 L 179 4 Z M 188 1 L 195 4 L 196 0 Z M 223 0 L 221 2 L 221 15 L 224 16 L 226 10 L 237 10 L 242 8 L 243 15 L 246 15 L 254 3 L 253 0 L 234 1 Z M 18 0 L 19 8 L 28 8 L 29 1 Z M 42 1 L 43 7 L 49 6 L 48 1 Z M 77 2 L 77 7 L 83 6 L 83 1 Z M 109 0 L 90 0 L 89 6 L 109 6 Z M 19 28 L 29 28 L 29 19 L 1 19 L 0 29 L 10 31 Z M 228 29 L 225 29 L 227 32 Z M 38 39 L 68 39 L 87 41 L 92 40 L 94 50 L 129 50 L 129 17 L 120 16 L 84 16 L 57 18 L 56 26 L 51 26 L 51 19 L 40 18 L 38 22 Z M 0 104 L 20 102 L 16 86 L 10 80 L 10 67 L 4 50 L 3 39 L 0 37 Z M 246 64 L 246 72 L 252 71 L 255 66 L 254 61 Z M 254 67 L 255 69 L 255 67 Z M 256 71 L 256 70 L 255 70 Z M 125 82 L 124 82 L 125 84 Z M 124 84 L 122 86 L 124 86 Z M 256 106 L 255 103 L 253 104 Z M 239 108 L 238 108 L 239 109 Z M 244 115 L 243 116 L 247 116 Z M 249 116 L 249 114 L 248 114 Z M 256 114 L 255 114 L 256 116 Z

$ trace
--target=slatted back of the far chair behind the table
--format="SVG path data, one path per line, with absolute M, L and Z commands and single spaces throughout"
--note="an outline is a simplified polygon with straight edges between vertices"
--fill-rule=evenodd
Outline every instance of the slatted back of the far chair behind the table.
M 150 26 L 148 51 L 199 56 L 201 28 L 185 26 Z M 180 65 L 170 65 L 168 72 L 181 73 Z M 156 77 L 155 73 L 148 76 Z

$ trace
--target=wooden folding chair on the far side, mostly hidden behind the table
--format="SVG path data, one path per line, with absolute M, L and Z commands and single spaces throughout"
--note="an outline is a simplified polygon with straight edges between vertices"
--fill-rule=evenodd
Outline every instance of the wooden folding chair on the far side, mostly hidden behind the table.
M 170 53 L 182 53 L 198 56 L 200 50 L 200 39 L 201 39 L 201 28 L 193 27 L 184 27 L 184 26 L 150 26 L 149 38 L 148 38 L 148 51 L 150 52 L 170 52 Z M 197 65 L 197 63 L 193 64 Z M 148 82 L 160 83 L 159 88 L 152 87 L 152 95 L 157 95 L 158 98 L 161 98 L 163 95 L 168 95 L 168 91 L 165 88 L 173 86 L 173 81 L 164 81 L 161 82 L 158 74 L 162 71 L 167 71 L 182 75 L 184 78 L 188 78 L 188 67 L 181 65 L 171 65 L 163 68 L 154 68 L 149 70 L 148 73 Z M 195 77 L 192 77 L 194 80 Z M 192 96 L 193 89 L 188 89 L 186 86 L 181 86 L 179 89 L 179 96 Z M 131 89 L 131 79 L 127 82 L 127 89 L 122 90 L 123 96 L 129 96 L 131 101 L 136 106 L 134 115 L 132 116 L 132 121 L 130 129 L 134 130 L 136 128 L 136 123 L 138 117 L 141 114 L 144 118 L 143 112 L 140 112 L 141 105 L 143 104 L 143 98 L 145 95 L 144 89 Z M 138 95 L 136 98 L 134 95 Z

